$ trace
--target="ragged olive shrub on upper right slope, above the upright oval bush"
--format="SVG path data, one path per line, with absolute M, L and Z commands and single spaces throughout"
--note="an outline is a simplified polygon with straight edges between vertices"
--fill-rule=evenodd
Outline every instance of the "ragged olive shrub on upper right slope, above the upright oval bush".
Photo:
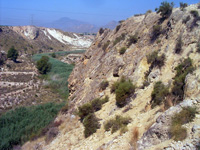
M 165 54 L 158 56 L 158 51 L 154 51 L 147 56 L 147 63 L 151 64 L 150 69 L 153 69 L 154 67 L 161 68 L 165 64 Z

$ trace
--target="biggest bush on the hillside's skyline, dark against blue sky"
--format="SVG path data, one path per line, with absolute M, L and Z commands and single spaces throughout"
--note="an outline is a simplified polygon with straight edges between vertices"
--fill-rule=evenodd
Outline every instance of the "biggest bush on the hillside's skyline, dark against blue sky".
M 160 13 L 163 19 L 168 18 L 172 14 L 174 3 L 162 2 L 159 8 L 156 8 L 156 13 Z

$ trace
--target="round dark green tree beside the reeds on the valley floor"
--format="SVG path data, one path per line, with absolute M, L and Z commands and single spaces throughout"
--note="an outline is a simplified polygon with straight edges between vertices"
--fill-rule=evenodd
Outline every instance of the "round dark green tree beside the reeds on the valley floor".
M 40 60 L 37 61 L 36 67 L 41 74 L 46 74 L 51 70 L 51 63 L 49 63 L 48 56 L 42 56 Z

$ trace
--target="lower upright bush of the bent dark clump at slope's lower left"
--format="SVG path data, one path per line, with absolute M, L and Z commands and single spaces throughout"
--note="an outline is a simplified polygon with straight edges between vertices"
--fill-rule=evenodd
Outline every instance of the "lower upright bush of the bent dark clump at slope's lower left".
M 83 120 L 83 125 L 85 127 L 85 138 L 89 137 L 90 135 L 95 133 L 97 129 L 100 128 L 99 121 L 94 114 L 89 114 L 88 116 L 86 116 Z

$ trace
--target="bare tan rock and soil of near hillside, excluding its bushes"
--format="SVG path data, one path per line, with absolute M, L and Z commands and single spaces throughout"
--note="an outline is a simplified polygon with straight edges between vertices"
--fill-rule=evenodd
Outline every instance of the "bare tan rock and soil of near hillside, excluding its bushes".
M 59 134 L 50 143 L 45 143 L 42 137 L 26 143 L 22 149 L 197 149 L 200 141 L 199 114 L 196 114 L 192 122 L 184 125 L 188 133 L 185 140 L 175 142 L 169 136 L 172 116 L 183 107 L 195 106 L 200 112 L 200 53 L 197 51 L 200 26 L 199 21 L 190 13 L 191 10 L 200 13 L 197 5 L 190 5 L 184 11 L 174 8 L 171 16 L 163 22 L 159 14 L 148 13 L 127 19 L 113 31 L 100 30 L 95 42 L 80 59 L 69 78 L 69 110 L 67 114 L 60 114 L 56 118 L 63 122 L 59 126 Z M 190 19 L 184 23 L 187 16 Z M 162 31 L 154 38 L 153 28 L 158 24 L 162 26 Z M 129 44 L 132 35 L 137 35 L 138 41 Z M 180 36 L 182 51 L 177 54 L 175 47 Z M 127 50 L 120 54 L 119 50 L 125 46 Z M 150 68 L 147 56 L 157 50 L 158 55 L 165 54 L 165 64 L 161 68 L 151 69 L 145 77 Z M 188 57 L 192 59 L 195 70 L 185 79 L 184 101 L 175 106 L 172 104 L 169 109 L 163 105 L 151 108 L 154 84 L 162 81 L 171 89 L 176 66 Z M 110 89 L 122 76 L 129 78 L 137 88 L 129 103 L 119 108 L 116 106 L 115 94 Z M 101 90 L 100 84 L 104 80 L 109 82 L 109 86 Z M 144 87 L 145 80 L 149 84 Z M 85 138 L 84 126 L 74 114 L 79 106 L 105 95 L 109 96 L 109 102 L 95 112 L 100 129 Z M 105 131 L 105 122 L 116 115 L 131 118 L 125 133 L 118 131 L 112 134 Z

